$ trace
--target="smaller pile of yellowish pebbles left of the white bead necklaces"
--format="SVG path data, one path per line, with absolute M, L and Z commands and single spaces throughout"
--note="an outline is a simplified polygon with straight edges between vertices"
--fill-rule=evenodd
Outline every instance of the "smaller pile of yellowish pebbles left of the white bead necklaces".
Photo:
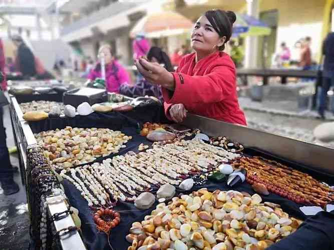
M 117 153 L 132 136 L 109 128 L 78 128 L 43 131 L 35 134 L 38 144 L 56 170 L 94 161 Z

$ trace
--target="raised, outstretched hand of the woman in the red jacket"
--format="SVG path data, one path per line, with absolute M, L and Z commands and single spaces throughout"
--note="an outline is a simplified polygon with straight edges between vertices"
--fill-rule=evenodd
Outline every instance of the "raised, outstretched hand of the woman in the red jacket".
M 175 80 L 171 72 L 156 62 L 144 58 L 135 60 L 138 71 L 151 83 L 161 85 L 169 90 L 175 89 Z

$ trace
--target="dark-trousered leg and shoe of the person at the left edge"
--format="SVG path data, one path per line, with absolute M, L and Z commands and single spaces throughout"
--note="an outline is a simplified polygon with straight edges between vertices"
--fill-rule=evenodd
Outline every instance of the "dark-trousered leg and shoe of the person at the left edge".
M 6 195 L 19 191 L 19 186 L 13 179 L 13 168 L 6 143 L 6 131 L 4 126 L 4 110 L 0 107 L 0 182 Z

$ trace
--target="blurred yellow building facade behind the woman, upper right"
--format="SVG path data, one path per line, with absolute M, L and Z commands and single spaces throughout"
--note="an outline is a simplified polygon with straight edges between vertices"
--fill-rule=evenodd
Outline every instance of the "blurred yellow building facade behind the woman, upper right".
M 166 5 L 195 21 L 208 9 L 221 8 L 239 13 L 254 15 L 271 27 L 269 36 L 255 38 L 255 44 L 246 53 L 252 60 L 251 67 L 268 67 L 272 55 L 278 51 L 281 42 L 292 50 L 293 59 L 298 60 L 295 43 L 301 38 L 312 38 L 312 59 L 319 61 L 322 41 L 330 30 L 331 11 L 334 0 L 207 0 L 204 4 L 188 5 L 185 0 L 175 0 Z M 249 5 L 255 4 L 256 10 L 249 13 Z M 242 40 L 242 43 L 246 43 Z M 173 50 L 171 43 L 169 50 Z M 255 46 L 254 46 L 255 45 Z M 255 52 L 254 52 L 255 50 Z M 246 55 L 247 56 L 247 55 Z M 256 58 L 256 59 L 254 59 Z

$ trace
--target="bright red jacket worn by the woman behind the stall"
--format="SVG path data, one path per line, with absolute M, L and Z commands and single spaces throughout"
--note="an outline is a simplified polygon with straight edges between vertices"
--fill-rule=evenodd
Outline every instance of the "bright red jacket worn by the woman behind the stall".
M 185 55 L 176 72 L 175 90 L 162 88 L 166 116 L 169 107 L 183 103 L 194 114 L 246 125 L 246 118 L 239 107 L 235 65 L 231 57 L 217 51 L 195 63 L 195 53 Z

